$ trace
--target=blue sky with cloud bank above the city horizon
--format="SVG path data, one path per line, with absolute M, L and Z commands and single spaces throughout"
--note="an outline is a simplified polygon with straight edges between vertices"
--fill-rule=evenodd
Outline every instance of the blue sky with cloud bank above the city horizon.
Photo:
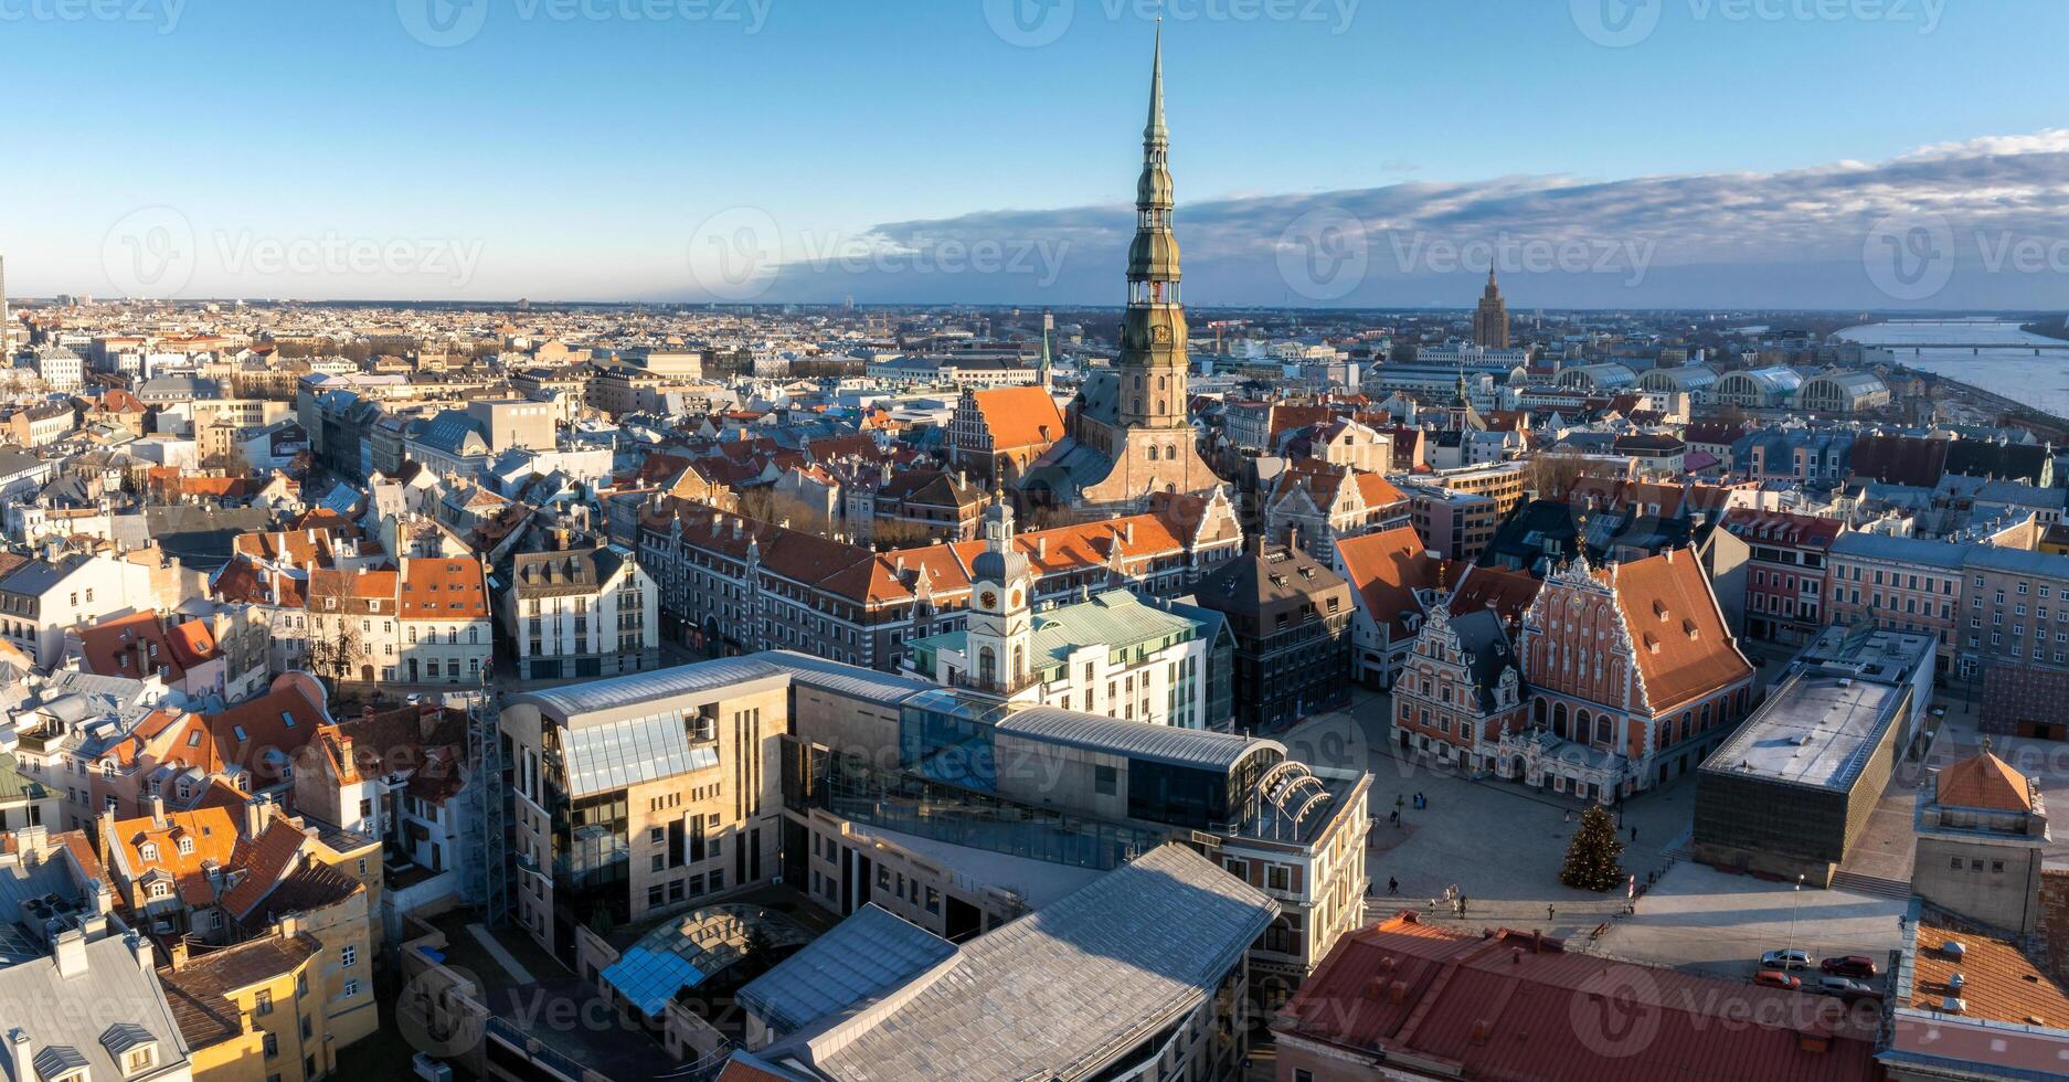
M 93 2 L 118 17 L 74 19 Z M 1028 4 L 1020 23 L 1010 2 Z M 1037 2 L 0 0 L 17 151 L 0 172 L 8 285 L 17 296 L 1117 300 L 1121 267 L 1105 259 L 1113 213 L 1134 190 L 1152 6 Z M 2007 271 L 2015 261 L 1984 236 L 2063 217 L 2055 192 L 2069 188 L 2055 170 L 2069 174 L 2069 137 L 2009 155 L 1974 143 L 2069 126 L 2069 70 L 2055 58 L 2069 4 L 1171 0 L 1167 10 L 1177 221 L 1188 254 L 1200 252 L 1188 259 L 1196 304 L 1440 302 L 1477 275 L 1430 261 L 1417 238 L 1465 250 L 1500 240 L 1481 234 L 1496 226 L 1525 246 L 1622 246 L 1626 269 L 1651 242 L 1643 275 L 1577 273 L 1558 259 L 1502 267 L 1517 279 L 1510 294 L 1527 300 L 1539 285 L 1546 304 L 2069 304 L 2052 250 L 2028 263 L 2040 271 Z M 1601 43 L 1622 14 L 1641 39 Z M 441 27 L 457 41 L 424 43 L 441 41 Z M 1941 151 L 1961 168 L 1858 172 L 1804 207 L 1810 228 L 1781 219 L 1806 176 L 1932 145 L 1968 145 Z M 1947 203 L 2001 190 L 2007 157 L 2026 184 L 2017 221 L 2003 219 L 2001 199 Z M 1692 226 L 1717 201 L 1765 203 L 1775 176 L 1798 180 L 1783 184 L 1792 194 L 1759 252 L 1726 250 L 1744 240 L 1736 223 Z M 1608 194 L 1589 207 L 1539 199 L 1585 184 Z M 1651 217 L 1603 207 L 1635 197 L 1651 201 Z M 1670 230 L 1657 201 L 1674 197 L 1688 203 Z M 1285 281 L 1287 232 L 1297 246 L 1299 213 L 1318 207 L 1361 230 L 1359 290 L 1320 296 L 1337 285 Z M 1860 248 L 1889 213 L 1920 209 L 1947 217 L 1972 252 L 1951 259 L 1951 281 L 1930 296 L 1891 300 L 1914 290 L 1875 288 Z M 139 221 L 170 230 L 163 250 L 186 261 L 172 277 L 110 271 Z M 714 228 L 770 271 L 714 281 L 693 254 Z M 968 269 L 929 248 L 939 236 L 960 236 L 962 254 L 1003 254 L 999 265 L 1018 252 L 1037 271 L 983 259 Z M 354 246 L 362 259 L 335 254 Z M 1713 265 L 1761 269 L 1705 271 Z

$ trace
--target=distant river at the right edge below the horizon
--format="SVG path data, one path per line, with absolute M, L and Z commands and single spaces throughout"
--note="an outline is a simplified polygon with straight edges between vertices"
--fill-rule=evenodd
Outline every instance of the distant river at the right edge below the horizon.
M 1870 323 L 1848 327 L 1839 331 L 1839 337 L 1866 345 L 1887 345 L 1897 354 L 1897 364 L 1908 368 L 1957 379 L 1970 387 L 2023 401 L 2034 410 L 2069 418 L 2069 350 L 2042 350 L 2038 356 L 2032 348 L 2019 350 L 2019 343 L 2061 345 L 2061 341 L 2026 333 L 2017 323 L 2001 319 Z M 1966 341 L 1984 345 L 1984 350 L 1980 354 L 1937 350 L 1935 343 L 1943 341 Z M 1988 343 L 2003 345 L 1992 350 Z

